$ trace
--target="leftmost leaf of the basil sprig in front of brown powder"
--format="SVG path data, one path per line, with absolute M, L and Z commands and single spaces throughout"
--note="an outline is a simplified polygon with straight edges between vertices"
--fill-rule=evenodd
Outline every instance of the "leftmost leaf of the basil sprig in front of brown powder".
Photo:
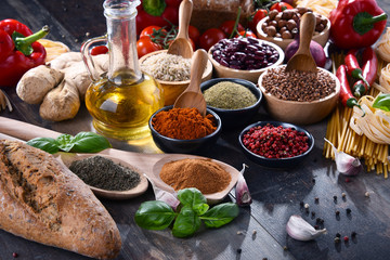
M 174 220 L 176 212 L 172 208 L 160 200 L 145 202 L 136 210 L 135 223 L 146 230 L 167 229 Z

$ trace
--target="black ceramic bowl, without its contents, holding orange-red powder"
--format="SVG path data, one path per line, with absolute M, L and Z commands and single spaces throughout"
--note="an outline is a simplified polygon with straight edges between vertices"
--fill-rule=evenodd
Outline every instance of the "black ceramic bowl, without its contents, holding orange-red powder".
M 152 138 L 158 148 L 160 148 L 165 153 L 177 153 L 177 154 L 193 154 L 200 152 L 210 145 L 217 142 L 221 130 L 222 130 L 222 121 L 221 118 L 212 110 L 207 108 L 207 114 L 211 114 L 217 120 L 217 129 L 211 134 L 202 138 L 202 139 L 193 139 L 193 140 L 180 140 L 180 139 L 171 139 L 167 138 L 160 133 L 158 133 L 152 126 L 153 117 L 159 113 L 160 110 L 169 110 L 173 106 L 165 106 L 157 112 L 155 112 L 148 121 L 148 127 L 152 132 Z

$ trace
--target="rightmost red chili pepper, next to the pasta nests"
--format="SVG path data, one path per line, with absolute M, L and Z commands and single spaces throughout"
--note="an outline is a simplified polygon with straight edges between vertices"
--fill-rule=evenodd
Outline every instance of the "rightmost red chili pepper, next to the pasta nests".
M 378 57 L 375 54 L 375 51 L 372 47 L 367 47 L 364 49 L 362 54 L 363 61 L 363 78 L 367 80 L 367 83 L 364 83 L 363 80 L 358 80 L 353 84 L 353 95 L 356 98 L 361 98 L 368 90 L 369 87 L 375 82 L 378 72 Z

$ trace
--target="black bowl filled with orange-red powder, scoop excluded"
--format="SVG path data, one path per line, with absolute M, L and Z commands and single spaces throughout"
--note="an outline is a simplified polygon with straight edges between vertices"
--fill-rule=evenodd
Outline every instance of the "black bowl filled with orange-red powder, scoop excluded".
M 157 147 L 166 153 L 191 154 L 217 142 L 221 118 L 207 108 L 203 117 L 196 108 L 165 106 L 155 112 L 150 121 L 152 138 Z

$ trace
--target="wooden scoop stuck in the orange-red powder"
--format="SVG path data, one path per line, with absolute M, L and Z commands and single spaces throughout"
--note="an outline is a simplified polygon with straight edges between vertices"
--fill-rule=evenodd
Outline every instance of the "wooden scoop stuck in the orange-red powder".
M 205 50 L 199 49 L 194 53 L 191 64 L 190 84 L 176 100 L 174 108 L 195 107 L 203 116 L 206 116 L 206 101 L 199 86 L 207 62 L 208 55 Z

